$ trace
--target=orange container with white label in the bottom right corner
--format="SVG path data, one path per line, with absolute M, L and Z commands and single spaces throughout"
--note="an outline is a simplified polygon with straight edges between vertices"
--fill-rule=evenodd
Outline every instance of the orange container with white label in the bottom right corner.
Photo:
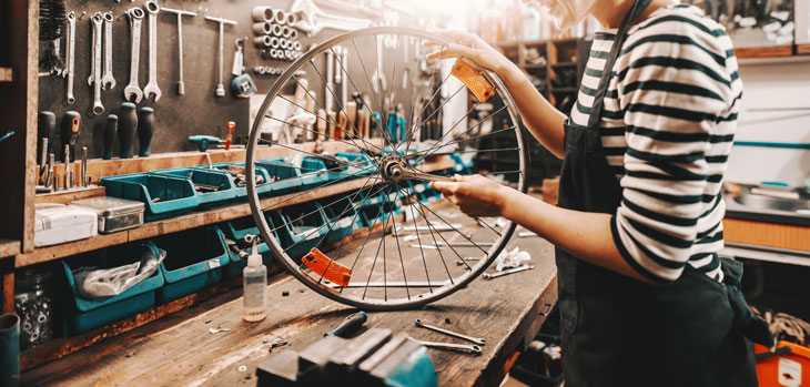
M 810 386 L 810 348 L 779 342 L 773 350 L 776 354 L 761 360 L 763 355 L 770 355 L 769 348 L 755 344 L 753 352 L 757 354 L 757 379 L 760 387 Z

